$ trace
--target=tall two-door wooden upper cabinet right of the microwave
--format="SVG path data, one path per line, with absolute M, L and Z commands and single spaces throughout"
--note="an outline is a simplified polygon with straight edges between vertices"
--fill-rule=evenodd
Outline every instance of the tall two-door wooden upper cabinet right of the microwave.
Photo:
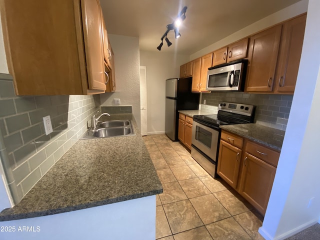
M 293 94 L 306 14 L 250 37 L 245 91 Z

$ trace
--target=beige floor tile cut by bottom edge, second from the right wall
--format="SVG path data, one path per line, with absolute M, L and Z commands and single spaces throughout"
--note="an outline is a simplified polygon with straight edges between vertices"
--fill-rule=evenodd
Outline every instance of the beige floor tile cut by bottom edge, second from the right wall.
M 208 224 L 206 228 L 214 240 L 251 240 L 251 237 L 232 217 Z

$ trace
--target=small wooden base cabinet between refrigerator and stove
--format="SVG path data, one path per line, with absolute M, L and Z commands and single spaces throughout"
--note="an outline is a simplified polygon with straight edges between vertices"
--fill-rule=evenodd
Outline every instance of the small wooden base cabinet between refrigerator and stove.
M 179 113 L 178 139 L 189 149 L 192 141 L 192 117 Z

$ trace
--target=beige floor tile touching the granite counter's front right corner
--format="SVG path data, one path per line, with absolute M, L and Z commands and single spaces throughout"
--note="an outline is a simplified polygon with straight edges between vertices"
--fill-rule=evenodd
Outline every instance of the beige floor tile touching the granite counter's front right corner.
M 187 199 L 184 191 L 177 181 L 163 183 L 163 192 L 159 194 L 162 204 Z

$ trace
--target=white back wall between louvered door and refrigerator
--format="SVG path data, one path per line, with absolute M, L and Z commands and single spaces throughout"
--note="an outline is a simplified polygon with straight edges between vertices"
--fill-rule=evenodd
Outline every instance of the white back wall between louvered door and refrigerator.
M 179 77 L 180 65 L 186 63 L 188 57 L 157 51 L 140 51 L 140 65 L 146 66 L 148 134 L 164 133 L 165 79 Z

